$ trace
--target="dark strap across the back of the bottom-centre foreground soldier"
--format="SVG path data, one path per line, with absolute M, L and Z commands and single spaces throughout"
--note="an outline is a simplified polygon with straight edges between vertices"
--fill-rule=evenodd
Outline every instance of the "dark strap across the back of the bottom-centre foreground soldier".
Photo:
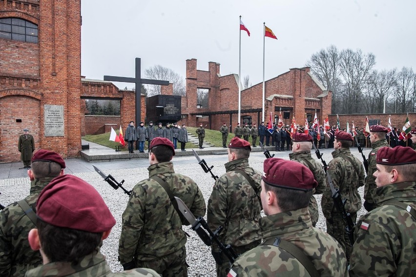
M 305 253 L 302 250 L 300 250 L 299 247 L 297 247 L 293 243 L 284 240 L 283 238 L 276 237 L 269 238 L 268 240 L 263 242 L 262 245 L 272 245 L 285 250 L 293 257 L 295 257 L 303 265 L 303 267 L 306 269 L 309 275 L 311 275 L 311 277 L 320 276 L 312 261 L 305 255 Z

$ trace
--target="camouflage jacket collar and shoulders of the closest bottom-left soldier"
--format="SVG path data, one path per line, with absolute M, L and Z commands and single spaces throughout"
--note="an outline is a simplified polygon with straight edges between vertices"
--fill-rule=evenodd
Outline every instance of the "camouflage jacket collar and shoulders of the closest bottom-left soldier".
M 136 268 L 123 272 L 113 273 L 105 258 L 100 252 L 85 256 L 79 264 L 71 265 L 69 262 L 50 262 L 29 270 L 25 277 L 65 276 L 65 277 L 160 277 L 155 271 L 148 268 Z

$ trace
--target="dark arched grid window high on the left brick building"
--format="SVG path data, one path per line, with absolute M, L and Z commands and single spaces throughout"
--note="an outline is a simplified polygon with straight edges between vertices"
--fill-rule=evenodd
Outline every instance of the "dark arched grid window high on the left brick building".
M 38 43 L 38 25 L 19 18 L 1 18 L 0 39 Z

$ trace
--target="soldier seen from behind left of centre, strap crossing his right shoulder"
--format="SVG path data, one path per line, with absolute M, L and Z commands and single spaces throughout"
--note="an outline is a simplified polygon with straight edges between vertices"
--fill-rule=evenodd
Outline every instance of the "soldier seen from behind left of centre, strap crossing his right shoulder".
M 136 184 L 123 213 L 119 260 L 124 269 L 146 267 L 164 277 L 187 276 L 187 237 L 166 188 L 181 198 L 195 217 L 206 212 L 201 190 L 189 177 L 173 170 L 173 143 L 155 138 L 150 145 L 149 178 Z M 159 178 L 159 180 L 158 180 Z

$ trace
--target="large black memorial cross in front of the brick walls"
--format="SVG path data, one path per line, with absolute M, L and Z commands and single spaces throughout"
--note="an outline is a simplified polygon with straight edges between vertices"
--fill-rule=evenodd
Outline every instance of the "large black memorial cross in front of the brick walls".
M 169 81 L 162 81 L 162 80 L 151 80 L 151 79 L 141 79 L 141 62 L 140 58 L 136 58 L 136 77 L 129 78 L 129 77 L 118 77 L 118 76 L 104 76 L 104 81 L 113 81 L 113 82 L 124 82 L 124 83 L 135 83 L 136 84 L 136 126 L 139 126 L 139 122 L 141 120 L 141 88 L 142 84 L 150 84 L 150 85 L 169 85 Z

